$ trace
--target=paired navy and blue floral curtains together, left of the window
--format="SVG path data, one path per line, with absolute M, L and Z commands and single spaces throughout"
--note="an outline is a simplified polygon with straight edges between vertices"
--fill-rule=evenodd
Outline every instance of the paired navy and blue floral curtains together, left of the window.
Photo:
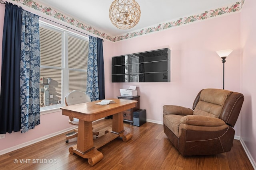
M 0 96 L 0 133 L 25 133 L 40 123 L 38 16 L 6 2 Z

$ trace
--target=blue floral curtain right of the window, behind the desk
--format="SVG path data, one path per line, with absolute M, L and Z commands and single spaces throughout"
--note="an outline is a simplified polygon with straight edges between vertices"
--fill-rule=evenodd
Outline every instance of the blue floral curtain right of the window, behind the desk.
M 86 94 L 91 101 L 99 100 L 97 38 L 89 36 Z

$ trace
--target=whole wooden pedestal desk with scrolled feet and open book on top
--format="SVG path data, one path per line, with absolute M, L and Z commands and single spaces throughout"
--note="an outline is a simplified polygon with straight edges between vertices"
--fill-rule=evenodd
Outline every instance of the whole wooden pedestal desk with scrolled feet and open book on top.
M 122 137 L 122 140 L 125 142 L 132 139 L 132 134 L 124 131 L 122 111 L 136 107 L 137 101 L 124 99 L 111 100 L 114 100 L 116 103 L 100 106 L 95 104 L 99 101 L 94 101 L 60 108 L 62 109 L 62 115 L 79 119 L 77 145 L 70 147 L 69 152 L 71 154 L 76 153 L 83 158 L 88 158 L 88 163 L 92 166 L 103 158 L 103 154 L 97 150 L 98 148 L 117 137 Z M 113 115 L 112 131 L 93 140 L 92 121 L 110 115 Z

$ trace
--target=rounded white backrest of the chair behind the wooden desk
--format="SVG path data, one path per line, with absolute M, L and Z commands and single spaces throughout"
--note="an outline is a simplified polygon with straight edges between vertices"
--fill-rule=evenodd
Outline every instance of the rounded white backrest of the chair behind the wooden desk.
M 91 99 L 89 96 L 87 96 L 87 94 L 81 91 L 72 91 L 68 93 L 65 97 L 65 104 L 67 106 L 86 102 L 91 102 Z

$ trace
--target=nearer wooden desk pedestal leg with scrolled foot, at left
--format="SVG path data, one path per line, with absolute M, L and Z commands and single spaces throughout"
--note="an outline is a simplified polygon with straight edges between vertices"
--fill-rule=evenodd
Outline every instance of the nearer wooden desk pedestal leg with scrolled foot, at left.
M 93 146 L 92 122 L 79 119 L 77 145 L 69 148 L 71 154 L 78 154 L 88 158 L 88 163 L 93 166 L 103 158 L 102 152 Z

